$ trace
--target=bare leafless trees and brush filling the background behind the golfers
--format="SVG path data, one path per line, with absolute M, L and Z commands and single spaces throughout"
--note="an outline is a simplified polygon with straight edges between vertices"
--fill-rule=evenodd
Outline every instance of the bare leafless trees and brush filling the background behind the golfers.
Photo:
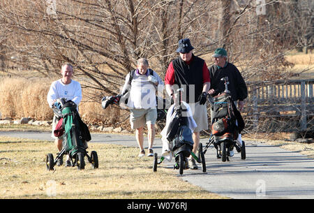
M 180 38 L 195 54 L 225 47 L 246 80 L 289 78 L 284 55 L 313 48 L 313 1 L 2 0 L 0 70 L 43 77 L 75 66 L 84 87 L 119 92 L 139 57 L 165 75 Z M 97 98 L 100 96 L 97 95 Z

